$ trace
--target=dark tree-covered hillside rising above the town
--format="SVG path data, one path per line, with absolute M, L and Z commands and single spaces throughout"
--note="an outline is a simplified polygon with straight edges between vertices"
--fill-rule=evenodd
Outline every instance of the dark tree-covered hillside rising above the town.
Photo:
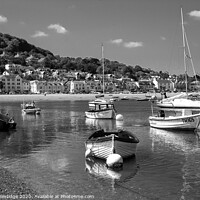
M 0 67 L 14 63 L 34 68 L 44 67 L 50 69 L 77 70 L 92 74 L 102 73 L 101 61 L 97 58 L 71 58 L 55 56 L 52 52 L 29 44 L 26 40 L 0 33 Z M 104 59 L 105 74 L 115 74 L 116 77 L 129 77 L 138 79 L 148 78 L 150 74 L 158 74 L 151 69 L 145 69 L 139 65 L 127 66 L 118 61 Z M 162 74 L 159 72 L 159 74 Z M 168 73 L 163 73 L 168 76 Z

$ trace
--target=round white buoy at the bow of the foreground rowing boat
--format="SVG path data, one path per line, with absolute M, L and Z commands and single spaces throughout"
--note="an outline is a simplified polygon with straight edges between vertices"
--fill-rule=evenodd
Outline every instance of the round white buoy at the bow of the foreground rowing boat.
M 123 158 L 116 153 L 110 154 L 106 159 L 106 166 L 108 168 L 120 168 L 123 167 Z

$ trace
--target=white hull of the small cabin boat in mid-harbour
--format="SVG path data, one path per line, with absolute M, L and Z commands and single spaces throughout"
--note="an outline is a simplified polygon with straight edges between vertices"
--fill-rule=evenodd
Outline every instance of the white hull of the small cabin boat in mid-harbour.
M 90 119 L 114 119 L 116 113 L 113 109 L 99 110 L 99 111 L 86 111 L 85 116 Z

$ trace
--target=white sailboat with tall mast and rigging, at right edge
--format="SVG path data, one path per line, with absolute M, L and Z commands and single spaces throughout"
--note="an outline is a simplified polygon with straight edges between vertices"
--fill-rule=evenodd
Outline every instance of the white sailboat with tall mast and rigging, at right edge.
M 181 27 L 182 27 L 182 39 L 183 39 L 183 55 L 184 55 L 184 68 L 185 68 L 185 83 L 186 83 L 186 92 L 178 94 L 176 96 L 162 99 L 156 104 L 160 108 L 178 108 L 178 109 L 192 109 L 200 110 L 200 100 L 193 98 L 193 94 L 188 94 L 187 88 L 187 65 L 186 59 L 190 59 L 193 66 L 193 61 L 191 59 L 190 48 L 187 40 L 187 35 L 184 27 L 183 12 L 181 8 Z M 186 52 L 187 48 L 187 52 Z M 193 68 L 194 69 L 194 68 Z

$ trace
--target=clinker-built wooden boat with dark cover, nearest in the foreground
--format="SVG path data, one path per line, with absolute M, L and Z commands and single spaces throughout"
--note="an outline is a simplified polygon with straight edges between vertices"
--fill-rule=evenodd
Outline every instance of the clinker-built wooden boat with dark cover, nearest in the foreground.
M 103 129 L 95 131 L 85 142 L 88 156 L 107 159 L 116 153 L 122 158 L 135 156 L 139 139 L 129 131 L 118 130 L 105 132 Z

